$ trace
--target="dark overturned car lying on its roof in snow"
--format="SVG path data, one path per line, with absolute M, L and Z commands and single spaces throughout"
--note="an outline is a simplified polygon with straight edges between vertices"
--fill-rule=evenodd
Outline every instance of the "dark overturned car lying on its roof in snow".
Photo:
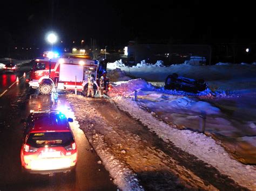
M 204 80 L 193 80 L 186 77 L 178 76 L 173 73 L 166 77 L 165 89 L 181 90 L 190 93 L 199 93 L 208 88 L 208 84 Z

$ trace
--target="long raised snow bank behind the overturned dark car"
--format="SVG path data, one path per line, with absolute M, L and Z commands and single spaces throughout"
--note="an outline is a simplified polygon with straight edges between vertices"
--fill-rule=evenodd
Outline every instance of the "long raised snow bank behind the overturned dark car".
M 108 67 L 112 67 L 112 64 L 116 62 L 108 63 Z M 160 62 L 157 62 L 155 66 L 157 65 L 160 65 Z M 172 73 L 192 79 L 204 79 L 206 81 L 240 80 L 245 79 L 245 77 L 247 79 L 255 78 L 256 73 L 255 65 L 231 63 L 217 63 L 217 65 L 211 66 L 179 64 L 168 67 L 154 67 L 154 65 L 142 61 L 137 66 L 122 67 L 118 65 L 118 67 L 133 77 L 152 82 L 164 82 L 166 77 Z

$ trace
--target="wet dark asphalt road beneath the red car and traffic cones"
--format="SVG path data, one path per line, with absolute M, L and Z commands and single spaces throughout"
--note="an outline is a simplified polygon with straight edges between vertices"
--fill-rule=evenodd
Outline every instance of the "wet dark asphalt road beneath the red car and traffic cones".
M 60 105 L 69 107 L 60 93 L 41 95 L 30 90 L 22 77 L 30 68 L 27 64 L 14 74 L 0 72 L 0 190 L 116 190 L 109 172 L 98 164 L 98 155 L 76 123 L 70 124 L 78 148 L 75 176 L 69 173 L 53 176 L 21 173 L 21 119 L 26 118 L 30 110 L 54 109 Z M 17 76 L 19 83 L 16 83 Z

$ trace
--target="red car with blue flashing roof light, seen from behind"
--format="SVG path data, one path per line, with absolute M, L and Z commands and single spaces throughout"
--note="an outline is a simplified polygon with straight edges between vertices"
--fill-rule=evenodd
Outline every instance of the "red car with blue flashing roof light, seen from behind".
M 22 171 L 38 174 L 75 171 L 77 146 L 62 112 L 31 112 L 21 147 Z

